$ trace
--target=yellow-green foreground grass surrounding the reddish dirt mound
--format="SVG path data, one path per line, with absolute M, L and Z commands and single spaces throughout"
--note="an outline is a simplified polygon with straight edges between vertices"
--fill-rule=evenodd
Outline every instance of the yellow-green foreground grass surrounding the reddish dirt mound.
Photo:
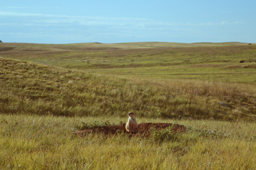
M 77 124 L 118 124 L 121 117 L 0 115 L 2 169 L 254 169 L 254 123 L 177 120 L 191 126 L 179 140 L 156 142 L 120 134 L 74 136 Z M 173 123 L 171 119 L 153 122 Z M 138 123 L 151 122 L 141 118 Z M 218 131 L 202 135 L 198 131 Z M 18 135 L 17 135 L 18 134 Z

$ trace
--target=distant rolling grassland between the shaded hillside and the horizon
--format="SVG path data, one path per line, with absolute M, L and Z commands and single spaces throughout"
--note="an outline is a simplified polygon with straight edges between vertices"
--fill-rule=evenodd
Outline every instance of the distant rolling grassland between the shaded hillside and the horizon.
M 1 50 L 2 49 L 2 50 Z M 256 45 L 246 43 L 3 43 L 0 56 L 149 79 L 212 80 L 255 84 Z M 244 60 L 245 63 L 239 63 Z M 251 62 L 250 62 L 251 61 Z M 88 63 L 89 62 L 89 63 Z

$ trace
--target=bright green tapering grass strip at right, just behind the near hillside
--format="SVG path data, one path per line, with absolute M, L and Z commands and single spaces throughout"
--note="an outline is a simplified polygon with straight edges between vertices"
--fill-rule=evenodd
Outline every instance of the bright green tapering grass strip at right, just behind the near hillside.
M 236 65 L 236 69 L 229 69 L 232 65 L 205 64 L 194 66 L 161 66 L 161 67 L 135 67 L 135 68 L 105 68 L 104 74 L 122 75 L 125 77 L 143 77 L 147 79 L 193 79 L 208 80 L 218 79 L 220 82 L 256 83 L 256 63 Z M 100 69 L 88 69 L 91 72 L 102 74 Z

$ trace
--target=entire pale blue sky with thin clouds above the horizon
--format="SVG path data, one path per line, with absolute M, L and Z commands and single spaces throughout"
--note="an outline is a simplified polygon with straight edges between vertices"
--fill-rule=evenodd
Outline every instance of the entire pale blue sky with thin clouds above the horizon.
M 0 40 L 29 43 L 251 42 L 256 1 L 2 1 Z

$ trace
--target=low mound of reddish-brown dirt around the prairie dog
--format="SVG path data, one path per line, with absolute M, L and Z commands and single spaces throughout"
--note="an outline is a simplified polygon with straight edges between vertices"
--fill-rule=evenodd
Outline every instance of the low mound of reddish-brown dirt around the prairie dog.
M 184 133 L 186 132 L 186 128 L 183 125 L 178 124 L 169 124 L 169 123 L 142 123 L 138 124 L 138 132 L 133 133 L 131 135 L 139 135 L 139 136 L 145 136 L 150 137 L 151 132 L 154 130 L 164 130 L 168 127 L 172 127 L 173 132 L 180 132 Z M 127 133 L 129 134 L 125 129 L 125 124 L 119 125 L 119 126 L 104 126 L 104 127 L 94 127 L 89 128 L 85 130 L 77 130 L 74 132 L 75 135 L 86 135 L 89 133 L 103 133 L 106 136 L 109 135 L 115 135 L 118 133 Z

